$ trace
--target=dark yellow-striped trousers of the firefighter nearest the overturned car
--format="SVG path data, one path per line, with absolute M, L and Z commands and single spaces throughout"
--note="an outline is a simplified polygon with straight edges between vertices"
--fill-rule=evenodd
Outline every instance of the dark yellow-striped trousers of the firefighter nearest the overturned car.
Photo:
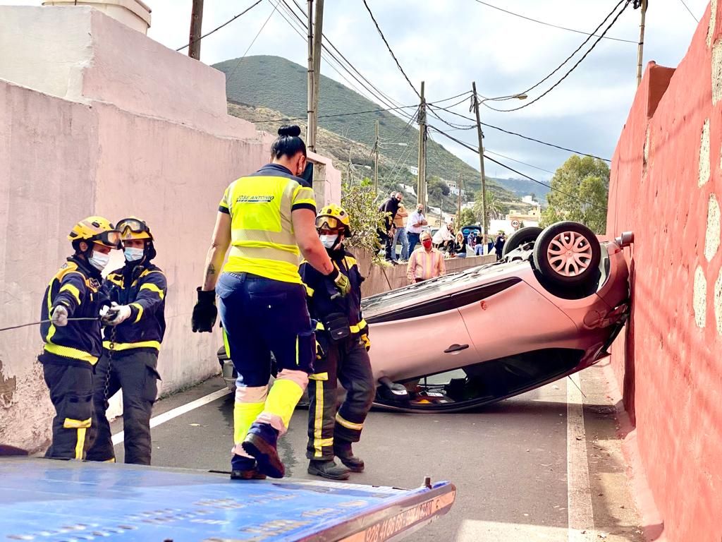
M 337 343 L 317 332 L 323 357 L 316 360 L 308 379 L 308 445 L 306 457 L 334 458 L 334 439 L 359 442 L 366 414 L 375 396 L 366 348 L 358 335 Z M 338 382 L 346 390 L 339 408 Z

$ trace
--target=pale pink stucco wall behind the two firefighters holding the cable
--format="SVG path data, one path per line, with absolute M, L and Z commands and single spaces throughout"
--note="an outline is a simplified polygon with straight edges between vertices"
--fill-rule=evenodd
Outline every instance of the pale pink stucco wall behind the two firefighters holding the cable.
M 53 33 L 65 40 L 58 47 L 84 60 L 62 77 L 80 77 L 71 86 L 82 92 L 71 99 L 44 93 L 66 87 L 53 82 L 52 70 L 49 79 L 24 79 L 26 86 L 4 81 L 18 66 L 4 72 L 0 62 L 0 327 L 38 319 L 79 218 L 138 215 L 153 230 L 156 262 L 168 276 L 162 393 L 198 382 L 218 369 L 220 337 L 190 328 L 217 205 L 227 184 L 268 161 L 273 137 L 226 116 L 223 74 L 94 9 L 0 7 L 0 34 L 9 22 L 27 21 L 18 11 L 25 9 L 39 25 L 64 25 L 68 35 Z M 56 9 L 62 16 L 48 18 Z M 74 35 L 89 31 L 90 46 Z M 38 33 L 27 36 L 17 46 L 34 48 L 27 55 L 38 69 L 57 59 L 37 43 Z M 311 158 L 325 166 L 316 194 L 338 201 L 339 171 Z M 37 327 L 0 334 L 1 443 L 41 449 L 48 442 L 51 405 L 35 359 L 41 345 Z

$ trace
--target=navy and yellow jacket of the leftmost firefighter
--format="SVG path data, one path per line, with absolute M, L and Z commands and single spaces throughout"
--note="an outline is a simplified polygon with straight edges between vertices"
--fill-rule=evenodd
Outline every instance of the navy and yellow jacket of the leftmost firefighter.
M 62 305 L 69 318 L 94 320 L 69 320 L 64 327 L 56 327 L 52 322 L 40 324 L 40 335 L 45 341 L 38 357 L 40 362 L 86 367 L 97 363 L 102 353 L 98 314 L 103 305 L 110 304 L 102 284 L 100 272 L 77 257 L 69 257 L 58 270 L 45 289 L 40 319 L 49 320 L 53 308 Z

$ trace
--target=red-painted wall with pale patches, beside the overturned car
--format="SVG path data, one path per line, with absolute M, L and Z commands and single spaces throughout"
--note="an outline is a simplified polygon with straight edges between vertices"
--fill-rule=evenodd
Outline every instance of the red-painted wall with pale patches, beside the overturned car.
M 612 364 L 671 542 L 722 540 L 722 247 L 705 254 L 720 236 L 710 197 L 722 203 L 722 100 L 713 103 L 722 96 L 713 90 L 722 89 L 722 2 L 712 4 L 710 46 L 708 9 L 676 70 L 648 65 L 609 189 L 607 233 L 635 233 L 625 250 L 632 317 Z M 695 273 L 705 296 L 696 313 Z

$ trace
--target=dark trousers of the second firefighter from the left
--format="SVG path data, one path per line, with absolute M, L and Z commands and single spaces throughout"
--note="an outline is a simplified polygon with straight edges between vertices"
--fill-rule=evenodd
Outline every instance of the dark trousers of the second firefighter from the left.
M 95 410 L 95 441 L 88 450 L 89 461 L 115 461 L 110 423 L 105 416 L 108 399 L 123 390 L 123 447 L 125 462 L 150 465 L 150 414 L 158 392 L 160 375 L 156 369 L 158 354 L 149 351 L 113 353 L 112 362 L 108 350 L 95 366 L 93 406 Z M 108 374 L 110 369 L 110 374 Z M 105 382 L 108 392 L 105 392 Z

